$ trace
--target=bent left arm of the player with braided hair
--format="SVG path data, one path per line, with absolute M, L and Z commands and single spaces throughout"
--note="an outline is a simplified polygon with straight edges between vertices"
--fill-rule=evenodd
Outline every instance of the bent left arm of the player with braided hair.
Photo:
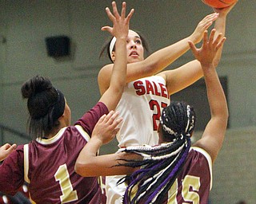
M 135 168 L 114 167 L 122 163 L 119 159 L 140 159 L 139 155 L 119 152 L 110 155 L 97 155 L 98 150 L 103 144 L 110 142 L 118 132 L 118 124 L 122 122 L 118 118 L 118 112 L 111 111 L 107 116 L 104 115 L 98 120 L 91 139 L 78 155 L 75 163 L 75 171 L 81 176 L 100 176 L 100 175 L 130 175 Z

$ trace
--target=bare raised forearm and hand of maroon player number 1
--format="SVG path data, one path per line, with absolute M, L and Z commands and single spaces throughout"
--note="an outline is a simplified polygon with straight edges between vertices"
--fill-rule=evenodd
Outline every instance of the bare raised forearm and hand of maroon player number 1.
M 129 30 L 130 18 L 134 13 L 134 10 L 130 10 L 130 13 L 126 17 L 126 2 L 122 2 L 121 15 L 118 14 L 117 5 L 112 2 L 113 14 L 109 8 L 106 8 L 106 14 L 113 22 L 113 27 L 104 26 L 102 30 L 110 32 L 116 41 L 116 60 L 114 61 L 113 72 L 110 77 L 110 87 L 102 95 L 99 101 L 106 104 L 106 107 L 110 110 L 114 110 L 122 96 L 123 89 L 126 84 L 126 39 Z

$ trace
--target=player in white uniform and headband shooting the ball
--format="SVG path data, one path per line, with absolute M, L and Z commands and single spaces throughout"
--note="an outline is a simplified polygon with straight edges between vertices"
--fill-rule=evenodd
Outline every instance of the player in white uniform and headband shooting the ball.
M 215 37 L 218 36 L 218 33 L 225 35 L 226 15 L 233 6 L 223 10 L 214 10 L 214 14 L 207 15 L 198 23 L 194 33 L 189 37 L 160 49 L 145 59 L 146 41 L 144 37 L 138 32 L 129 31 L 126 45 L 127 84 L 116 108 L 123 118 L 122 126 L 117 135 L 118 147 L 155 145 L 158 143 L 159 117 L 162 108 L 170 104 L 170 96 L 203 76 L 202 67 L 197 60 L 190 61 L 177 69 L 161 71 L 190 49 L 188 41 L 192 41 L 194 44 L 201 41 L 203 32 L 213 22 L 215 22 L 214 28 L 216 29 Z M 115 38 L 113 37 L 104 48 L 112 62 L 115 61 L 114 42 Z M 102 49 L 102 53 L 104 49 Z M 214 58 L 214 65 L 218 65 L 221 54 L 222 49 L 219 49 Z M 109 86 L 112 68 L 113 64 L 105 65 L 98 73 L 98 85 L 101 94 Z M 119 204 L 122 201 L 126 186 L 116 185 L 121 177 L 106 178 L 108 204 Z

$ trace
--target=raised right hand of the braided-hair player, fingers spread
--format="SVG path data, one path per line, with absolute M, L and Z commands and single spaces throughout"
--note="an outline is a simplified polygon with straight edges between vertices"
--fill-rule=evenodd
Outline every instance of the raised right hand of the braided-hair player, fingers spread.
M 222 33 L 219 33 L 218 37 L 214 40 L 215 32 L 216 29 L 212 29 L 209 38 L 207 36 L 207 30 L 204 32 L 202 47 L 199 49 L 195 47 L 192 41 L 189 41 L 190 49 L 194 53 L 194 57 L 200 61 L 202 68 L 213 63 L 218 49 L 220 49 L 224 44 L 224 41 L 226 41 L 226 37 L 222 37 Z

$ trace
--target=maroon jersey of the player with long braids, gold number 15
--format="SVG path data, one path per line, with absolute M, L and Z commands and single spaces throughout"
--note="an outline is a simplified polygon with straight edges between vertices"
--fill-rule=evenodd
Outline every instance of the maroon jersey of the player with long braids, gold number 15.
M 199 147 L 191 147 L 182 171 L 168 192 L 168 202 L 206 204 L 212 186 L 210 155 Z

